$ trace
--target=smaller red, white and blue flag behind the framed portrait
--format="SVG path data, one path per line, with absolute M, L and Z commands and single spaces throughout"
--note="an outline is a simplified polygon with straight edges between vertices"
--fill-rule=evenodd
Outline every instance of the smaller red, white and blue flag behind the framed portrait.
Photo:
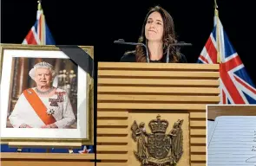
M 38 9 L 36 13 L 36 23 L 30 29 L 28 35 L 23 40 L 23 44 L 33 45 L 55 45 L 56 42 L 52 37 L 45 18 L 43 15 L 43 9 L 41 3 L 38 3 Z

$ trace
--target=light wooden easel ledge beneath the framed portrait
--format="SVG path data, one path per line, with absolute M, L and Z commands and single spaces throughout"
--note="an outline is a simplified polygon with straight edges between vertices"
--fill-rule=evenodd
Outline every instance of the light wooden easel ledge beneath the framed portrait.
M 69 154 L 74 153 L 73 149 L 79 149 L 82 147 L 81 143 L 48 143 L 48 142 L 10 142 L 8 143 L 10 148 L 17 148 L 16 152 L 22 152 L 23 148 L 43 148 L 47 149 L 47 153 L 51 148 L 65 148 L 69 149 Z

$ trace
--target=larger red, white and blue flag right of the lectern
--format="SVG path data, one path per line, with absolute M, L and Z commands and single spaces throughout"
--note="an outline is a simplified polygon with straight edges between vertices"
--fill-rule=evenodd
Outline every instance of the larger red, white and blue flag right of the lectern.
M 218 49 L 219 48 L 219 49 Z M 220 53 L 220 104 L 256 104 L 256 87 L 246 67 L 234 50 L 219 16 L 214 16 L 214 27 L 197 63 L 218 63 Z

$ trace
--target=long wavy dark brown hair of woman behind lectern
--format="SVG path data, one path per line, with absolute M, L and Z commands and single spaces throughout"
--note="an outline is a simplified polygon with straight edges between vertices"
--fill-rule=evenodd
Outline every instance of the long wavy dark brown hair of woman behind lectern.
M 145 36 L 145 25 L 148 21 L 148 16 L 153 13 L 154 11 L 157 11 L 160 13 L 162 20 L 163 20 L 163 54 L 167 54 L 169 51 L 169 56 L 170 56 L 170 62 L 178 62 L 181 57 L 180 50 L 178 48 L 170 47 L 169 50 L 167 50 L 167 47 L 172 44 L 177 42 L 176 40 L 176 35 L 174 31 L 174 20 L 172 16 L 167 12 L 167 10 L 162 9 L 160 6 L 155 6 L 154 8 L 151 8 L 148 11 L 148 15 L 146 16 L 142 30 L 141 30 L 141 36 L 139 38 L 138 42 L 146 44 L 146 36 Z M 135 56 L 136 56 L 136 61 L 138 62 L 146 62 L 146 52 L 144 48 L 141 45 L 138 45 L 135 49 Z

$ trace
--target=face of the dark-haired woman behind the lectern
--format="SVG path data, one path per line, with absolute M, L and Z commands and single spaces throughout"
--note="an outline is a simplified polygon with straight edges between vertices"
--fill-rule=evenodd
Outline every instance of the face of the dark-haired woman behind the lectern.
M 163 20 L 159 12 L 154 11 L 148 16 L 145 35 L 148 41 L 162 41 Z

